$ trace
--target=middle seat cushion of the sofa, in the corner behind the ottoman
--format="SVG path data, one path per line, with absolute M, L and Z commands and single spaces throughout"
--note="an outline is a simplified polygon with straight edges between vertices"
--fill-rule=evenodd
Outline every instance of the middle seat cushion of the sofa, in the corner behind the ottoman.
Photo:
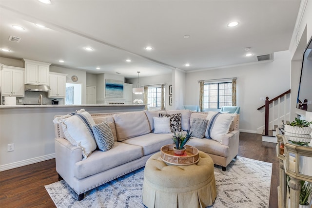
M 173 144 L 171 134 L 157 134 L 148 133 L 141 136 L 137 136 L 131 139 L 122 141 L 122 143 L 137 145 L 142 147 L 143 156 L 160 151 L 160 148 L 164 145 Z

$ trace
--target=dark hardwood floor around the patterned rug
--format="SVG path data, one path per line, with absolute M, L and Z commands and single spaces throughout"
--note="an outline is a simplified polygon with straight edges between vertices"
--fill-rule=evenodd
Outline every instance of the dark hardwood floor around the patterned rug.
M 238 156 L 273 163 L 269 208 L 277 208 L 279 175 L 276 144 L 262 142 L 261 134 L 241 132 Z M 44 185 L 58 180 L 54 159 L 2 171 L 0 208 L 53 208 L 55 205 Z

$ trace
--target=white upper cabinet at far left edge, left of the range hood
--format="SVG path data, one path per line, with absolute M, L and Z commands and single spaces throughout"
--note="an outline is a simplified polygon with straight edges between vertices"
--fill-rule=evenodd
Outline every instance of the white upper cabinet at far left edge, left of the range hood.
M 23 97 L 24 92 L 24 68 L 5 66 L 1 68 L 2 96 Z

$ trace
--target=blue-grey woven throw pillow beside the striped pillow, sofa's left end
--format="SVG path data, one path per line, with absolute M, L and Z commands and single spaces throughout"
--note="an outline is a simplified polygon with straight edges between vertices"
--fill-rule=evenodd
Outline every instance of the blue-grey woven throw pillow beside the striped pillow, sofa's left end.
M 114 136 L 109 124 L 104 121 L 92 127 L 98 149 L 108 151 L 114 146 Z

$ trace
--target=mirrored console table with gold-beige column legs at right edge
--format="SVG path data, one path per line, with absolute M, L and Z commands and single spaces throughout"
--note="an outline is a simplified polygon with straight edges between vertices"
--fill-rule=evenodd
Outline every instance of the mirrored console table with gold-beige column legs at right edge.
M 312 182 L 312 147 L 298 145 L 297 142 L 311 141 L 311 138 L 284 135 L 281 129 L 277 128 L 276 154 L 279 159 L 279 187 L 278 187 L 278 206 L 288 208 L 287 177 L 290 186 L 290 208 L 299 207 L 300 181 Z

